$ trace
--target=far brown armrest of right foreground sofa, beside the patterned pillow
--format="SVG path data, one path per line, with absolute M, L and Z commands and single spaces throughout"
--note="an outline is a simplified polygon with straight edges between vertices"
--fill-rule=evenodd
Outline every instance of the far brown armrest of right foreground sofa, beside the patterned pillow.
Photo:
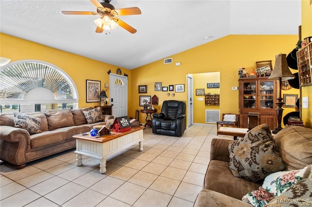
M 210 160 L 230 162 L 228 146 L 233 140 L 213 138 L 211 140 Z

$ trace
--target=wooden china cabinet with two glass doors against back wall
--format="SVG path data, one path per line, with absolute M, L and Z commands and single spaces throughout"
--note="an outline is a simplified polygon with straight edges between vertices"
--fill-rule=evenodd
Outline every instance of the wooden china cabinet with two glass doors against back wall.
M 260 113 L 260 124 L 277 126 L 276 81 L 268 77 L 239 79 L 239 127 L 248 128 L 248 112 Z

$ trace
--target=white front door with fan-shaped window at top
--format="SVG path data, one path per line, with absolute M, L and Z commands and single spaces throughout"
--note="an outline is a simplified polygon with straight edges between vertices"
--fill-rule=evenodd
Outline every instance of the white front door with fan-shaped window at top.
M 110 101 L 113 106 L 113 116 L 128 115 L 128 77 L 110 73 Z

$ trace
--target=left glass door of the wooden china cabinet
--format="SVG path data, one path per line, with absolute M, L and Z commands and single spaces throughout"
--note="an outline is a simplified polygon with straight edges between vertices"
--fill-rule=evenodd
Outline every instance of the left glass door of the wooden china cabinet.
M 244 82 L 244 108 L 255 108 L 256 107 L 256 81 Z

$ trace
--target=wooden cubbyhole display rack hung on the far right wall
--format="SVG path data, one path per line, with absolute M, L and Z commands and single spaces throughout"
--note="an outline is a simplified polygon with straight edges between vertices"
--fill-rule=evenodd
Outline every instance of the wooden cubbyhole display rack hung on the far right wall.
M 300 86 L 312 85 L 312 42 L 297 52 Z

